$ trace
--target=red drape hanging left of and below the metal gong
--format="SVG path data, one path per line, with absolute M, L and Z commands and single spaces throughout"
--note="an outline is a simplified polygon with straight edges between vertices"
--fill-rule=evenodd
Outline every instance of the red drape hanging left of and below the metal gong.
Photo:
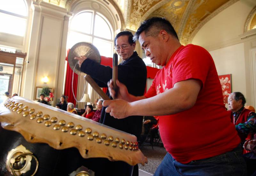
M 70 49 L 68 49 L 68 52 L 69 52 L 69 50 Z M 68 52 L 67 52 L 67 57 L 66 57 L 67 61 L 68 61 Z M 67 73 L 66 73 L 66 83 L 65 83 L 64 95 L 68 96 L 68 102 L 71 102 L 76 106 L 76 100 L 72 93 L 72 74 L 73 74 L 73 70 L 69 67 L 69 64 L 67 63 Z M 78 79 L 78 75 L 74 74 L 73 90 L 74 90 L 75 96 L 77 93 L 77 79 Z

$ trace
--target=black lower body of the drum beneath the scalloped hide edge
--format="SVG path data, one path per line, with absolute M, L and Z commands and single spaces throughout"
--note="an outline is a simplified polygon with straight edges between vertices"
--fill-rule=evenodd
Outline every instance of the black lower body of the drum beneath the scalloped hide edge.
M 29 143 L 24 137 L 11 130 L 0 127 L 0 175 L 11 175 L 6 169 L 8 152 L 19 145 L 33 153 L 38 159 L 39 167 L 36 176 L 69 175 L 79 167 L 85 166 L 95 172 L 95 176 L 131 176 L 133 166 L 123 161 L 109 161 L 107 158 L 84 159 L 76 148 L 57 150 L 44 143 Z M 34 159 L 31 161 L 30 171 L 23 176 L 31 175 L 36 168 Z

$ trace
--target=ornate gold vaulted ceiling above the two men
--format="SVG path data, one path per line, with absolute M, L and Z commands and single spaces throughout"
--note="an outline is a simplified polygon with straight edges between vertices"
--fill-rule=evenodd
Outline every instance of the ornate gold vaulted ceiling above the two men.
M 77 0 L 43 0 L 70 9 Z M 238 0 L 104 0 L 110 2 L 125 19 L 124 28 L 136 31 L 151 17 L 164 17 L 175 28 L 180 42 L 186 45 L 196 32 L 220 11 Z M 254 24 L 254 23 L 253 23 Z

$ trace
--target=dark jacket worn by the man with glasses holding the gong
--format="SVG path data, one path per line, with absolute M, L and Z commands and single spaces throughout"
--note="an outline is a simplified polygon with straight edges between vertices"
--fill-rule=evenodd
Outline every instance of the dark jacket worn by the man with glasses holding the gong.
M 100 65 L 99 63 L 86 59 L 81 65 L 81 71 L 89 74 L 100 87 L 108 87 L 107 82 L 112 79 L 112 68 Z M 132 56 L 118 65 L 118 80 L 128 89 L 128 92 L 135 96 L 142 96 L 147 81 L 147 68 L 143 60 L 134 52 Z M 107 95 L 110 97 L 109 92 Z M 112 97 L 110 97 L 112 99 Z M 129 116 L 124 119 L 116 119 L 105 112 L 102 108 L 100 123 L 118 130 L 140 136 L 143 116 Z

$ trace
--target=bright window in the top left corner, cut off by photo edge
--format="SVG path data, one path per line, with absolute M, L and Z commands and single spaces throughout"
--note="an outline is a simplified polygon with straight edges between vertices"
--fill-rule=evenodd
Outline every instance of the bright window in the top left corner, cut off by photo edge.
M 0 0 L 0 32 L 24 36 L 27 16 L 25 0 Z

